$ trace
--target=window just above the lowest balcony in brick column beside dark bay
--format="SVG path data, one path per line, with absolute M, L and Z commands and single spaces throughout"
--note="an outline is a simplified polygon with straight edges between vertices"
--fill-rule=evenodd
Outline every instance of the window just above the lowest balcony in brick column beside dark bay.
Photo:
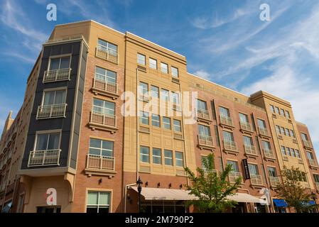
M 90 155 L 113 157 L 114 142 L 90 138 Z

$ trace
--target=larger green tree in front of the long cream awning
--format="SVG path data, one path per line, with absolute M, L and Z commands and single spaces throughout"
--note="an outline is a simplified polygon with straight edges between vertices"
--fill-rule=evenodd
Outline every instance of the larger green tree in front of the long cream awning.
M 234 184 L 227 181 L 229 173 L 232 172 L 232 165 L 227 165 L 225 170 L 217 174 L 214 155 L 209 154 L 202 158 L 202 166 L 196 169 L 198 175 L 185 167 L 186 175 L 191 182 L 186 187 L 190 194 L 198 197 L 197 200 L 189 201 L 188 205 L 194 205 L 203 213 L 220 213 L 234 207 L 237 202 L 227 199 L 227 196 L 235 193 L 242 179 L 238 177 Z

